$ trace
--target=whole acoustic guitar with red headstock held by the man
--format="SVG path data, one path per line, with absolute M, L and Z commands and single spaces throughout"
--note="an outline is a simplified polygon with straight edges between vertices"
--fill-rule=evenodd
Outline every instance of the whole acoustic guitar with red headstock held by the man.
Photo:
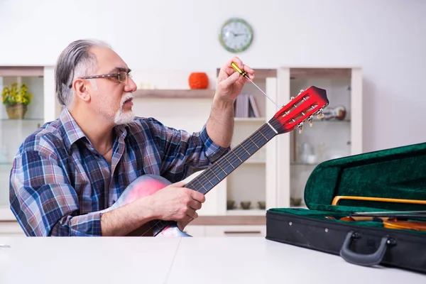
M 272 119 L 263 124 L 238 146 L 222 155 L 221 158 L 203 170 L 196 178 L 187 182 L 185 187 L 202 192 L 204 195 L 207 194 L 227 175 L 232 173 L 239 165 L 278 134 L 293 131 L 296 127 L 302 131 L 304 121 L 309 121 L 310 126 L 312 126 L 312 115 L 323 116 L 322 111 L 328 104 L 327 93 L 324 89 L 311 86 L 305 91 L 301 90 L 297 97 L 292 97 L 290 102 L 277 111 Z M 141 175 L 126 187 L 119 199 L 111 207 L 103 211 L 116 209 L 138 198 L 153 195 L 170 184 L 169 180 L 159 175 Z M 190 235 L 180 231 L 177 222 L 153 220 L 132 231 L 128 236 Z

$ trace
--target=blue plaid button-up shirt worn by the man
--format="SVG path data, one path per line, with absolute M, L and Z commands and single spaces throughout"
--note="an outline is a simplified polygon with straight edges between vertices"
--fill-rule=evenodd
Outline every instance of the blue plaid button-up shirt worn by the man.
M 228 148 L 205 126 L 187 133 L 152 118 L 115 126 L 111 165 L 92 147 L 69 111 L 21 144 L 13 160 L 11 210 L 27 236 L 100 236 L 101 211 L 144 174 L 178 182 Z

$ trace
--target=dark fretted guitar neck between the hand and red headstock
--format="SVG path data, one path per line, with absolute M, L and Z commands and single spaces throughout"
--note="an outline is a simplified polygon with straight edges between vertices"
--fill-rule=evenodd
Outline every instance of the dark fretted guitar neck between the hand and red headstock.
M 270 124 L 263 124 L 263 126 L 246 138 L 246 140 L 242 141 L 200 175 L 188 182 L 185 187 L 197 190 L 205 195 L 238 168 L 239 165 L 268 143 L 275 135 L 277 133 L 272 129 Z

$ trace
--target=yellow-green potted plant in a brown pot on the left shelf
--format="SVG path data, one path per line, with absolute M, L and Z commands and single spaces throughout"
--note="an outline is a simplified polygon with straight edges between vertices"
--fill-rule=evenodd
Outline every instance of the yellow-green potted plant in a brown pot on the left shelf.
M 1 92 L 1 102 L 6 106 L 9 119 L 23 119 L 32 98 L 33 94 L 28 92 L 26 84 L 13 83 Z

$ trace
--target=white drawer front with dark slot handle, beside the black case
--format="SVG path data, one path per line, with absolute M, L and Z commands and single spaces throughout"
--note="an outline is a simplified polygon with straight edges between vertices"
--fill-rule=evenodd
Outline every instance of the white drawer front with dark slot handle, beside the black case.
M 264 225 L 206 226 L 206 236 L 266 236 Z

